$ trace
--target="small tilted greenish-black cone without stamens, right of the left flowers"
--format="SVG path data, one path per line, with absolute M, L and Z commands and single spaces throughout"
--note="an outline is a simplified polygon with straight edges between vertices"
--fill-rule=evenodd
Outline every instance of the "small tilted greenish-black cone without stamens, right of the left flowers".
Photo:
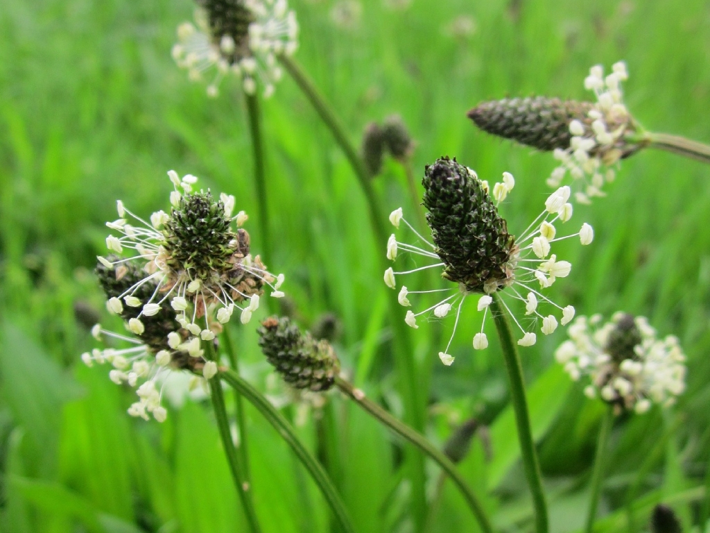
M 340 363 L 326 340 L 301 333 L 288 318 L 267 318 L 257 331 L 261 350 L 285 382 L 313 392 L 332 387 Z

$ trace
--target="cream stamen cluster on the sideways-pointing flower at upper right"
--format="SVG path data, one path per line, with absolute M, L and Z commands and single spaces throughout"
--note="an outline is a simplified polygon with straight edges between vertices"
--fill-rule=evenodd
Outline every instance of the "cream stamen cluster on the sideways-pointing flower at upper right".
M 584 87 L 596 95 L 596 103 L 587 113 L 589 122 L 572 120 L 569 123 L 572 134 L 569 148 L 555 149 L 554 156 L 560 166 L 552 171 L 547 184 L 559 187 L 568 171 L 574 179 L 587 178 L 584 190 L 575 193 L 579 203 L 588 204 L 591 198 L 605 195 L 601 190 L 604 183 L 610 183 L 616 176 L 608 167 L 623 155 L 616 144 L 623 138 L 630 122 L 621 92 L 621 82 L 626 80 L 628 72 L 622 61 L 615 63 L 613 72 L 606 77 L 601 65 L 592 67 L 584 80 Z

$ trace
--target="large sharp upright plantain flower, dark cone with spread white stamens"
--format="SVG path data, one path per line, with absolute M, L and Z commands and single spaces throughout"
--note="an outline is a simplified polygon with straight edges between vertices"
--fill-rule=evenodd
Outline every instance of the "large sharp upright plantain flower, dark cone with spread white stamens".
M 429 210 L 427 223 L 432 230 L 433 244 L 403 218 L 402 209 L 390 215 L 395 227 L 404 222 L 417 237 L 425 243 L 424 247 L 400 242 L 392 235 L 387 245 L 387 257 L 394 260 L 400 252 L 434 259 L 436 262 L 409 271 L 395 272 L 387 269 L 385 282 L 395 289 L 395 276 L 410 274 L 424 269 L 442 269 L 442 277 L 456 286 L 448 289 L 410 291 L 402 286 L 399 302 L 402 306 L 411 305 L 410 294 L 434 292 L 451 293 L 434 306 L 414 313 L 407 311 L 405 322 L 412 328 L 418 328 L 417 317 L 433 313 L 437 318 L 447 316 L 455 310 L 454 331 L 446 350 L 439 352 L 445 365 L 451 365 L 454 358 L 447 353 L 456 333 L 461 307 L 469 296 L 479 295 L 476 304 L 484 312 L 481 330 L 474 335 L 473 345 L 476 350 L 488 346 L 484 325 L 488 316 L 488 306 L 493 301 L 491 294 L 500 291 L 501 296 L 520 300 L 525 303 L 525 315 L 532 318 L 533 327 L 524 328 L 510 311 L 505 299 L 501 304 L 508 310 L 515 325 L 522 333 L 518 345 L 535 344 L 535 324 L 542 321 L 542 333 L 549 335 L 558 325 L 555 314 L 543 316 L 538 305 L 556 309 L 559 323 L 567 324 L 574 317 L 574 307 L 561 307 L 543 294 L 543 290 L 552 286 L 558 278 L 569 274 L 572 265 L 550 254 L 552 243 L 571 237 L 579 237 L 581 244 L 591 243 L 594 232 L 589 224 L 564 237 L 557 235 L 556 224 L 567 222 L 572 217 L 572 204 L 569 200 L 569 187 L 561 187 L 547 198 L 545 209 L 532 221 L 517 238 L 508 232 L 508 224 L 498 214 L 498 204 L 513 190 L 515 180 L 510 173 L 503 173 L 503 181 L 496 183 L 489 190 L 488 182 L 479 180 L 470 168 L 447 157 L 427 166 L 422 181 L 425 188 L 424 205 Z

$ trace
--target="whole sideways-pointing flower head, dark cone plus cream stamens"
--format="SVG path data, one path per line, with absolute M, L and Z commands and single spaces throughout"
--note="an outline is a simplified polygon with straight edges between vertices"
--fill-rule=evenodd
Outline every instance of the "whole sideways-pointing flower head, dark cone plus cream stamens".
M 606 77 L 601 65 L 595 65 L 584 80 L 584 87 L 594 91 L 594 103 L 547 97 L 503 99 L 479 104 L 469 117 L 488 133 L 553 151 L 560 165 L 547 184 L 557 188 L 569 173 L 583 183 L 575 193 L 577 201 L 590 203 L 604 195 L 603 185 L 616 176 L 610 167 L 649 144 L 645 136 L 636 135 L 643 130 L 623 104 L 621 82 L 627 79 L 621 61 Z

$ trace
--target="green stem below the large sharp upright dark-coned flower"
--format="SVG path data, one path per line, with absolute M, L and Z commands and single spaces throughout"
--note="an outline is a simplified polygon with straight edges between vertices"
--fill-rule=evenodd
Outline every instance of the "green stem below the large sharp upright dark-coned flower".
M 528 480 L 530 494 L 532 495 L 532 505 L 535 507 L 535 531 L 537 533 L 547 533 L 549 527 L 547 503 L 545 502 L 545 491 L 542 490 L 542 476 L 540 475 L 540 464 L 537 461 L 537 453 L 535 452 L 535 441 L 532 438 L 528 399 L 525 397 L 523 367 L 520 365 L 518 348 L 515 346 L 513 332 L 510 331 L 506 312 L 498 301 L 498 296 L 496 294 L 492 296 L 491 313 L 493 314 L 493 320 L 496 322 L 498 338 L 501 339 L 503 359 L 506 361 L 506 370 L 510 381 L 510 402 L 513 404 L 515 424 L 518 426 L 520 456 L 523 458 L 525 478 Z

